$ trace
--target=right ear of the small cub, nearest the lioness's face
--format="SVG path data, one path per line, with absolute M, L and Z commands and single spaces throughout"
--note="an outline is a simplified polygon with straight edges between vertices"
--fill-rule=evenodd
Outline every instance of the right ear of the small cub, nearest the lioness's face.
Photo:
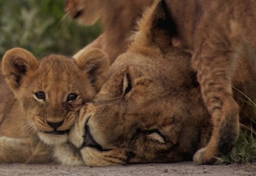
M 76 59 L 77 66 L 89 74 L 89 78 L 96 91 L 100 88 L 109 74 L 109 57 L 101 49 L 87 50 Z

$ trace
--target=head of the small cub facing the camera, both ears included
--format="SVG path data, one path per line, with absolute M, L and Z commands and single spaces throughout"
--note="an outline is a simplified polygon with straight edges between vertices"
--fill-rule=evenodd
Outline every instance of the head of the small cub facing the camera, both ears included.
M 81 106 L 100 90 L 109 71 L 104 51 L 93 49 L 76 61 L 49 55 L 38 61 L 22 48 L 8 50 L 2 59 L 6 82 L 19 102 L 26 128 L 47 144 L 68 139 L 67 132 Z

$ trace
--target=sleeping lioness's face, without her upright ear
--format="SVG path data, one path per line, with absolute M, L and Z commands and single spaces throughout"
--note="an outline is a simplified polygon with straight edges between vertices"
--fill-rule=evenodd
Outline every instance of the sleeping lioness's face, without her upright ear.
M 85 164 L 188 160 L 207 143 L 211 125 L 189 55 L 174 52 L 146 57 L 129 51 L 118 58 L 122 65 L 112 66 L 118 71 L 71 132 Z

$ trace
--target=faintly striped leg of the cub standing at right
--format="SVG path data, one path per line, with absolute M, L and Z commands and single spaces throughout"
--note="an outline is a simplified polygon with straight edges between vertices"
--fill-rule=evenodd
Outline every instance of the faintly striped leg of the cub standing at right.
M 216 157 L 228 153 L 239 132 L 239 107 L 233 99 L 231 86 L 237 61 L 230 51 L 220 53 L 212 48 L 213 45 L 207 46 L 193 55 L 192 64 L 197 70 L 205 105 L 212 116 L 213 132 L 207 147 L 195 153 L 195 164 L 210 164 Z

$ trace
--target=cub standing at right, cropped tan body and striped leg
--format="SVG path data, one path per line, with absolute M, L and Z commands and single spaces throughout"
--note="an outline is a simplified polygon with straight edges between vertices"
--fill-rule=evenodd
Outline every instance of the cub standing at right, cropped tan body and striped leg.
M 195 164 L 208 164 L 228 153 L 238 137 L 240 109 L 232 79 L 242 58 L 256 59 L 256 1 L 166 0 L 166 6 L 174 35 L 193 49 L 192 66 L 212 117 L 209 144 L 194 156 Z

